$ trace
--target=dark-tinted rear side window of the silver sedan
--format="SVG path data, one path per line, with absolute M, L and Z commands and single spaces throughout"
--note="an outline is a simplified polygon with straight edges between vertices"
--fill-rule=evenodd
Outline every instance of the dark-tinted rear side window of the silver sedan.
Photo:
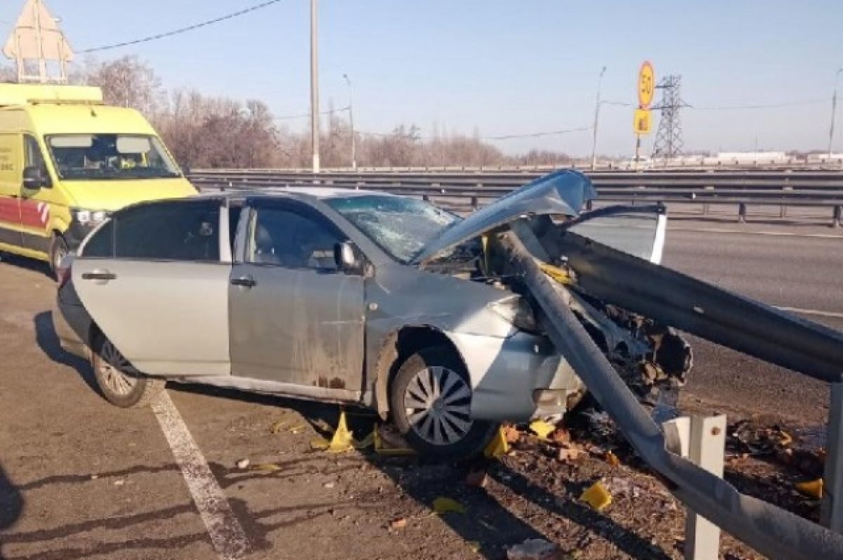
M 219 214 L 217 201 L 130 208 L 111 218 L 87 241 L 83 256 L 216 262 Z

